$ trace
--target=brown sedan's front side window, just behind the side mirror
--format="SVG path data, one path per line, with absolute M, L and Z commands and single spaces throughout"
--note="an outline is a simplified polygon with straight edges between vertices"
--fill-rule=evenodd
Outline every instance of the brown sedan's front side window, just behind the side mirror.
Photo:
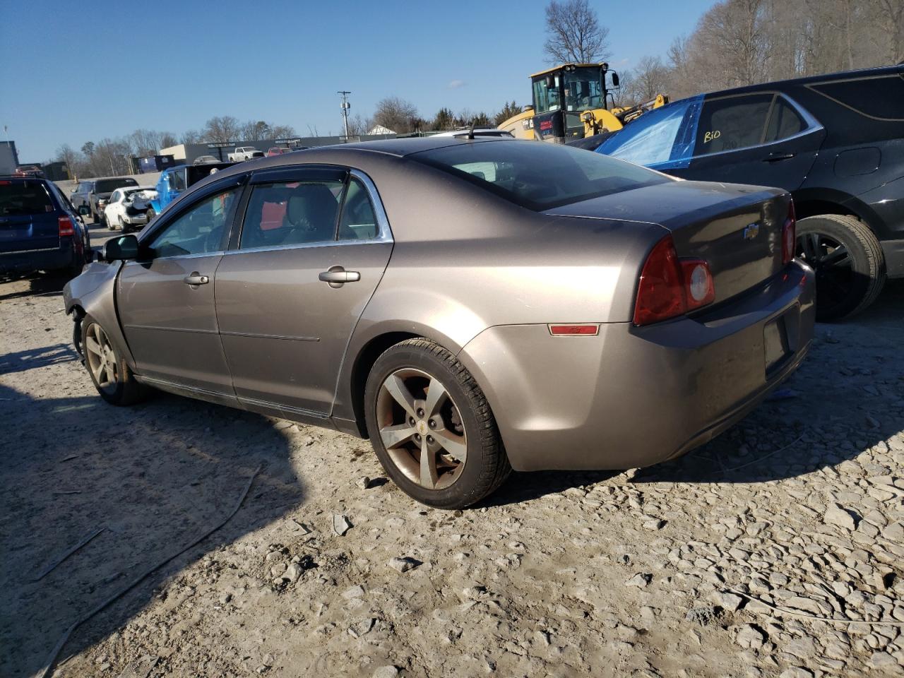
M 168 223 L 149 244 L 155 258 L 181 257 L 222 250 L 231 207 L 238 188 L 215 193 L 197 202 Z

